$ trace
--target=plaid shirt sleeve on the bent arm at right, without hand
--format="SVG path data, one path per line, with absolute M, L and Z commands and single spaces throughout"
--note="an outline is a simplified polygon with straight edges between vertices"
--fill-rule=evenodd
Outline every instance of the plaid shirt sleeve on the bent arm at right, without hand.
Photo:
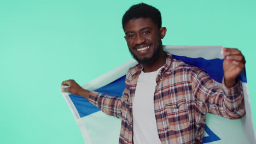
M 223 88 L 220 88 L 205 71 L 197 69 L 193 72 L 191 75 L 193 93 L 201 112 L 208 112 L 229 119 L 237 119 L 245 115 L 240 81 L 234 87 L 228 88 L 223 80 Z

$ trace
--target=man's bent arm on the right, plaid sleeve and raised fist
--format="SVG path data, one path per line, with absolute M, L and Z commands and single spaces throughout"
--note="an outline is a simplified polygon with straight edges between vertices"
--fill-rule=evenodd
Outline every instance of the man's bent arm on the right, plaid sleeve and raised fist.
M 217 87 L 204 71 L 195 70 L 192 75 L 194 94 L 201 111 L 230 119 L 245 115 L 241 83 L 237 76 L 245 68 L 245 58 L 237 49 L 223 49 L 223 89 Z

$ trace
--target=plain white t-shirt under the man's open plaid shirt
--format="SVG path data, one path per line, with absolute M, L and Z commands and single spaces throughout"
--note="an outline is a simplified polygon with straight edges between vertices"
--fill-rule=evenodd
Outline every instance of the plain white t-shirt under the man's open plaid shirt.
M 161 143 L 154 109 L 155 79 L 160 69 L 150 73 L 141 71 L 138 77 L 132 107 L 134 144 Z

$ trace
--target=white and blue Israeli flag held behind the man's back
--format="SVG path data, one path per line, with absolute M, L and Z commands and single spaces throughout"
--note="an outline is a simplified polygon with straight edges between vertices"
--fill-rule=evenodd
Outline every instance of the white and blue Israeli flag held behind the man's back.
M 190 65 L 205 70 L 220 87 L 223 78 L 222 46 L 164 46 L 164 50 Z M 86 83 L 83 88 L 121 97 L 125 87 L 125 75 L 137 62 L 131 61 Z M 207 113 L 203 143 L 241 144 L 256 143 L 251 103 L 245 70 L 239 76 L 245 95 L 246 116 L 230 120 Z M 62 93 L 66 99 L 86 144 L 118 143 L 121 119 L 104 114 L 96 106 L 78 95 Z

